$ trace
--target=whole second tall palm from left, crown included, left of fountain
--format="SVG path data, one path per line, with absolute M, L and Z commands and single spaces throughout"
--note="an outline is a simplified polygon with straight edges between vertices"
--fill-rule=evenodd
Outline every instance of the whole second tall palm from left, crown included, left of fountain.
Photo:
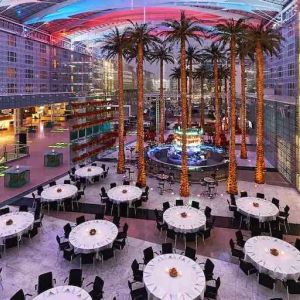
M 137 182 L 146 185 L 145 154 L 144 154 L 144 58 L 150 53 L 150 48 L 158 41 L 152 33 L 154 27 L 148 24 L 131 23 L 126 29 L 130 40 L 131 51 L 129 59 L 136 55 L 137 60 L 137 149 L 138 175 Z

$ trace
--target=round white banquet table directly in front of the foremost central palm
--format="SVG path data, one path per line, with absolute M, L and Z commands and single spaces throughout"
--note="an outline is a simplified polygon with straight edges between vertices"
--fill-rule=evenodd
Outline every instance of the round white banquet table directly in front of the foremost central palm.
M 186 216 L 182 216 L 186 213 Z M 173 206 L 163 214 L 164 222 L 179 233 L 193 233 L 204 229 L 206 217 L 202 211 L 191 206 Z

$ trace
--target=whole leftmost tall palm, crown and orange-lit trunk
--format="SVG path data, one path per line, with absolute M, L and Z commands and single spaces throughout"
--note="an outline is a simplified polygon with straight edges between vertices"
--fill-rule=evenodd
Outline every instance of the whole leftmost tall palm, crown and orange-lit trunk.
M 102 54 L 107 59 L 117 58 L 118 60 L 118 112 L 119 112 L 119 152 L 117 173 L 125 172 L 125 151 L 124 151 L 124 91 L 123 91 L 123 57 L 124 49 L 127 47 L 128 39 L 126 31 L 120 32 L 117 27 L 103 38 Z

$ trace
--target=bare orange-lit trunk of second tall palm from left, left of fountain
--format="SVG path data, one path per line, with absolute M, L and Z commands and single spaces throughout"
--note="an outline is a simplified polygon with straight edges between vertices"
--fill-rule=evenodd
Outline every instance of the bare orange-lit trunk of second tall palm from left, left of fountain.
M 137 182 L 146 185 L 145 156 L 144 156 L 144 46 L 138 44 L 137 57 L 137 143 L 138 143 L 138 175 Z

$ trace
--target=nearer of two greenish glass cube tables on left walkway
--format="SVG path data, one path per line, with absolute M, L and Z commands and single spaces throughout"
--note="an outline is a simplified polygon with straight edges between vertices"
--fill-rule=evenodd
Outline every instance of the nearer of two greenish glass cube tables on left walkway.
M 30 168 L 26 166 L 12 167 L 4 172 L 4 186 L 19 188 L 30 181 Z

